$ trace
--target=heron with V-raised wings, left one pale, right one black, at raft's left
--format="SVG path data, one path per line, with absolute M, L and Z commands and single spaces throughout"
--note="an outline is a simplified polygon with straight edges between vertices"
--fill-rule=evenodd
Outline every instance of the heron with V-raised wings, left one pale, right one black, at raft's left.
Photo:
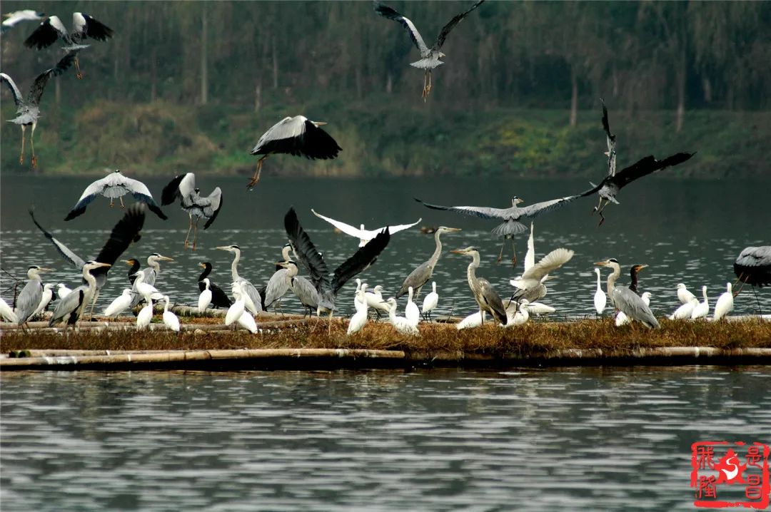
M 59 251 L 59 254 L 68 263 L 74 266 L 76 269 L 82 269 L 86 264 L 76 253 L 73 253 L 66 245 L 56 239 L 51 233 L 45 230 L 37 220 L 35 220 L 35 214 L 32 210 L 29 210 L 29 215 L 32 217 L 32 222 L 35 226 L 38 226 L 45 236 Z M 102 289 L 104 283 L 107 281 L 107 272 L 110 266 L 116 262 L 116 260 L 123 254 L 132 242 L 136 242 L 140 239 L 140 231 L 144 225 L 145 219 L 145 207 L 143 203 L 136 203 L 129 206 L 126 209 L 126 213 L 123 214 L 123 218 L 113 226 L 113 230 L 109 233 L 109 239 L 99 251 L 95 261 L 99 263 L 109 263 L 108 266 L 96 266 L 93 269 L 93 275 L 96 278 L 96 293 L 93 293 L 93 304 L 96 304 L 96 298 L 99 296 L 99 290 Z M 84 278 L 85 279 L 85 278 Z M 89 295 L 90 297 L 91 295 Z M 59 295 L 61 298 L 61 295 Z M 93 307 L 92 304 L 92 307 Z

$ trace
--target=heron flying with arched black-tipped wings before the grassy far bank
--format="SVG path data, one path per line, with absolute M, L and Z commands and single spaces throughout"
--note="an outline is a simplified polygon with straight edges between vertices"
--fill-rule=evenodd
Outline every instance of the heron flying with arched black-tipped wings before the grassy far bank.
M 305 156 L 307 159 L 335 159 L 342 148 L 338 146 L 321 126 L 327 123 L 311 121 L 305 115 L 285 117 L 277 122 L 267 132 L 264 132 L 250 155 L 262 155 L 257 162 L 257 170 L 247 184 L 251 189 L 260 180 L 262 162 L 274 153 L 288 153 L 294 156 Z

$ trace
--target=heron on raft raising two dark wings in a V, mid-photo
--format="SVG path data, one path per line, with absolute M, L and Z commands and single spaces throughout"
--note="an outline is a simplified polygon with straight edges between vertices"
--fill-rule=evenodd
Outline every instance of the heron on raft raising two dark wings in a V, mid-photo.
M 290 208 L 284 216 L 284 229 L 289 237 L 289 243 L 294 249 L 295 261 L 308 269 L 311 283 L 318 292 L 317 313 L 321 310 L 328 310 L 329 312 L 329 330 L 331 330 L 332 313 L 335 310 L 335 300 L 339 290 L 348 282 L 348 279 L 352 279 L 356 274 L 362 272 L 382 253 L 391 239 L 389 230 L 386 228 L 367 245 L 359 247 L 359 250 L 338 266 L 330 276 L 324 256 L 313 245 L 308 233 L 305 233 L 294 208 Z

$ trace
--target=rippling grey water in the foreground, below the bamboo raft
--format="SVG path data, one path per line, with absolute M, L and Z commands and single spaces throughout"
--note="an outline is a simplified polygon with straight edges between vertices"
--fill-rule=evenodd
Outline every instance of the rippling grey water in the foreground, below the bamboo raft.
M 3 373 L 2 510 L 692 510 L 766 366 Z

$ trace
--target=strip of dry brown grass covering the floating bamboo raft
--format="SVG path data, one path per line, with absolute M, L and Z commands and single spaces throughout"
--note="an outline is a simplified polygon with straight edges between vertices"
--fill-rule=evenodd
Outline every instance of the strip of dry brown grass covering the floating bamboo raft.
M 195 319 L 194 323 L 221 323 L 220 319 Z M 345 334 L 347 320 L 335 319 L 328 335 L 328 319 L 262 334 L 245 330 L 185 332 L 108 331 L 70 333 L 69 339 L 56 333 L 22 333 L 5 330 L 0 351 L 24 349 L 69 350 L 217 350 L 278 348 L 348 348 L 405 350 L 407 353 L 463 352 L 494 355 L 537 356 L 552 350 L 602 349 L 634 350 L 658 346 L 714 346 L 716 348 L 771 348 L 771 323 L 675 322 L 662 320 L 662 329 L 649 330 L 637 324 L 617 328 L 612 319 L 581 320 L 571 323 L 531 322 L 508 330 L 485 325 L 458 331 L 454 325 L 423 323 L 420 337 L 403 336 L 387 323 L 368 323 L 353 336 Z

